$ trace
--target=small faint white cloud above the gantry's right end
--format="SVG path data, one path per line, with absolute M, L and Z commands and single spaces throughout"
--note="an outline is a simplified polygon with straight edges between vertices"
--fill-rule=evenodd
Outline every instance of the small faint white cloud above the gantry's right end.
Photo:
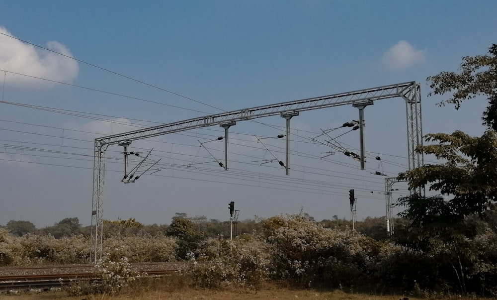
M 404 70 L 423 61 L 424 51 L 414 49 L 406 41 L 399 41 L 382 56 L 383 65 L 391 70 Z

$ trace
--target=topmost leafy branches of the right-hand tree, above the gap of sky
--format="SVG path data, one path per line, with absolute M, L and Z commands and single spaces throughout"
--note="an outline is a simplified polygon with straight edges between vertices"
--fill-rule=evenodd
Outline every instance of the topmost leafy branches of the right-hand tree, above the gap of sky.
M 497 130 L 497 44 L 489 48 L 489 55 L 463 57 L 459 70 L 459 73 L 441 72 L 428 77 L 427 81 L 433 90 L 428 95 L 453 92 L 451 98 L 439 105 L 454 104 L 456 109 L 461 107 L 464 100 L 486 95 L 489 104 L 483 112 L 483 124 Z

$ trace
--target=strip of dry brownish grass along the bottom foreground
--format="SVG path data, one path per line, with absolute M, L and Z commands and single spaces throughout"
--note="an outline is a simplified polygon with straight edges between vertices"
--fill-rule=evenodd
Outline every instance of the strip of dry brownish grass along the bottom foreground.
M 266 284 L 261 290 L 248 289 L 206 290 L 192 288 L 189 282 L 179 276 L 162 279 L 147 279 L 138 286 L 130 287 L 120 295 L 88 295 L 68 297 L 66 292 L 42 293 L 36 295 L 0 295 L 0 300 L 399 300 L 404 296 L 376 296 L 345 293 L 343 291 L 293 290 L 275 284 Z M 469 298 L 456 297 L 458 300 Z M 420 300 L 411 298 L 409 300 Z M 474 299 L 473 299 L 474 300 Z

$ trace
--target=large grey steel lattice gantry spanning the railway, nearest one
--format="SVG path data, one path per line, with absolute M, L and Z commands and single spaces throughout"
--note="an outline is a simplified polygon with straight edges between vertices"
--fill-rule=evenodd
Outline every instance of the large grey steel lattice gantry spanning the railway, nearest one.
M 191 130 L 195 128 L 220 125 L 225 130 L 237 121 L 246 121 L 261 117 L 280 115 L 287 120 L 287 132 L 289 119 L 298 115 L 299 112 L 341 105 L 354 105 L 359 109 L 373 104 L 375 100 L 402 98 L 406 101 L 407 111 L 407 136 L 409 169 L 422 165 L 422 155 L 415 154 L 416 145 L 422 144 L 421 132 L 421 103 L 420 88 L 416 82 L 406 82 L 371 89 L 364 89 L 322 97 L 303 100 L 269 104 L 235 111 L 211 114 L 183 121 L 168 123 L 164 125 L 139 129 L 120 134 L 104 136 L 95 139 L 94 165 L 93 165 L 93 197 L 91 212 L 91 260 L 96 262 L 102 255 L 102 213 L 103 213 L 103 187 L 105 173 L 105 151 L 109 145 L 118 145 L 134 140 Z M 288 154 L 287 135 L 287 154 Z M 288 155 L 287 155 L 288 175 Z

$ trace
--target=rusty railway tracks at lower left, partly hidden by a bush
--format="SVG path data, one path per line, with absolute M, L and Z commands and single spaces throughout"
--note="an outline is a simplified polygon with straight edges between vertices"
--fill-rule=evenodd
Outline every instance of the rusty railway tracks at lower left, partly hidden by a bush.
M 132 263 L 131 267 L 147 276 L 163 276 L 178 271 L 184 263 Z M 48 291 L 60 289 L 74 280 L 98 280 L 93 265 L 61 265 L 0 268 L 0 292 Z

